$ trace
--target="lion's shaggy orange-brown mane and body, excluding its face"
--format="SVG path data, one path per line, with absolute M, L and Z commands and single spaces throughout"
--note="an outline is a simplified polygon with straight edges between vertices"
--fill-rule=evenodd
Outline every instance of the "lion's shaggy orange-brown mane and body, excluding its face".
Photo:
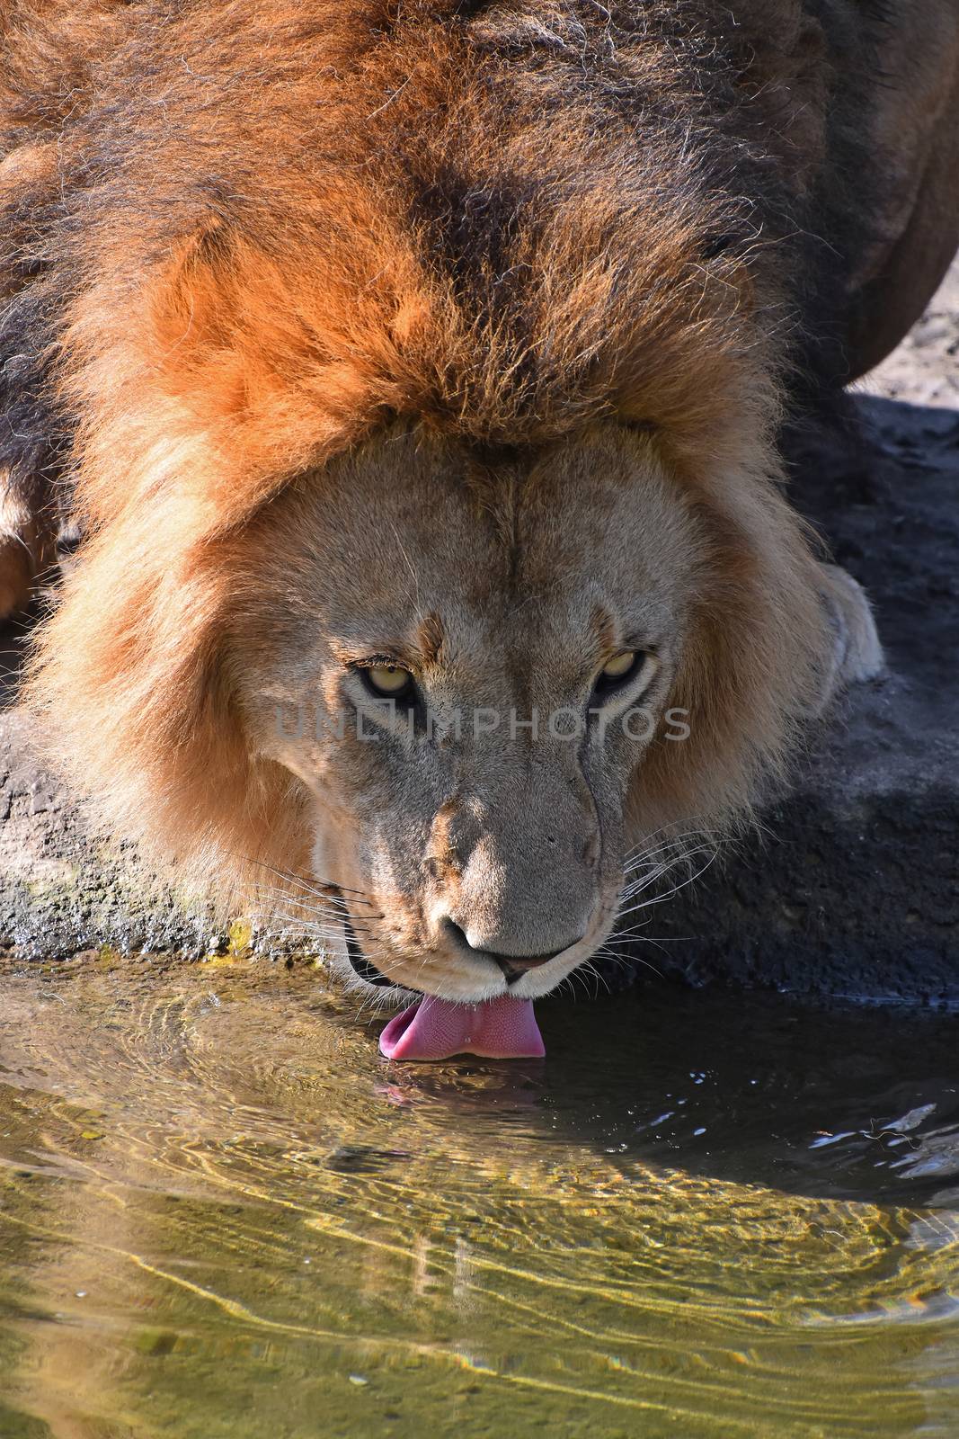
M 776 430 L 897 342 L 955 250 L 955 4 L 0 0 L 0 606 L 69 482 L 88 538 L 35 694 L 114 823 L 309 869 L 305 761 L 252 747 L 247 656 L 223 653 L 257 576 L 275 614 L 305 597 L 246 537 L 292 554 L 306 486 L 305 573 L 344 456 L 371 456 L 357 512 L 371 473 L 403 491 L 397 433 L 437 475 L 479 466 L 469 524 L 500 540 L 523 508 L 503 494 L 568 452 L 587 532 L 575 455 L 608 426 L 671 496 L 659 548 L 692 547 L 687 599 L 653 612 L 683 633 L 673 694 L 705 707 L 627 814 L 748 807 L 828 668 L 824 589 L 845 603 L 779 494 Z M 637 492 L 618 521 L 637 554 L 646 512 Z M 581 547 L 564 580 L 597 563 Z

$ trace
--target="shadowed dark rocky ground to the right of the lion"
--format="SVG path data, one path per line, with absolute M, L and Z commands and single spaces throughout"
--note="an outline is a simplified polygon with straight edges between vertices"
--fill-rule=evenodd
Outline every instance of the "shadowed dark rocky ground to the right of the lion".
M 792 498 L 868 590 L 886 673 L 791 799 L 663 907 L 657 967 L 801 993 L 959 1003 L 959 260 L 860 386 L 861 432 L 797 445 Z

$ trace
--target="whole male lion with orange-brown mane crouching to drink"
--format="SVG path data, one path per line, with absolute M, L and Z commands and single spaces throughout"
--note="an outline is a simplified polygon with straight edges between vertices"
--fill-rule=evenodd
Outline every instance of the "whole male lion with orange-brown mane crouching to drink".
M 65 764 L 181 875 L 309 885 L 364 983 L 546 993 L 880 665 L 778 436 L 956 248 L 953 0 L 0 30 L 0 607 L 69 509 Z

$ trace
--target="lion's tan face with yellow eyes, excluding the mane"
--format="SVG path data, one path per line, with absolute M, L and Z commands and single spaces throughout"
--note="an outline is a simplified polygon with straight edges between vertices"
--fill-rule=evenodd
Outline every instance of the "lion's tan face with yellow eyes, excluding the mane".
M 614 921 L 644 751 L 682 743 L 663 717 L 702 544 L 679 488 L 614 426 L 495 475 L 400 433 L 257 543 L 230 671 L 312 797 L 334 947 L 447 999 L 554 989 Z

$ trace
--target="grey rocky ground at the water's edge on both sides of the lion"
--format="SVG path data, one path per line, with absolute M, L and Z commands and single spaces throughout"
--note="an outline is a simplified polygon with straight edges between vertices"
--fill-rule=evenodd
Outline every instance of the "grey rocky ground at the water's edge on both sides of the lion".
M 690 983 L 959 1004 L 959 263 L 855 400 L 857 437 L 795 445 L 794 499 L 867 587 L 889 659 L 850 695 L 755 842 L 650 911 L 638 951 Z M 249 931 L 91 837 L 16 707 L 0 632 L 0 953 L 197 957 Z M 289 940 L 289 937 L 288 937 Z M 670 941 L 670 943 L 663 943 Z M 257 943 L 257 937 L 253 937 Z M 276 951 L 259 937 L 263 951 Z

